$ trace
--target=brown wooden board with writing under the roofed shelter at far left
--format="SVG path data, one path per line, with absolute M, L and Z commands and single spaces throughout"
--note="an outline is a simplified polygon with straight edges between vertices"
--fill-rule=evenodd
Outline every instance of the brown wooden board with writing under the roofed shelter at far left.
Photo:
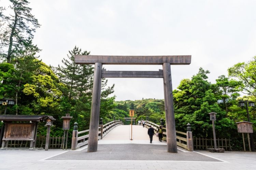
M 3 140 L 33 140 L 34 124 L 6 123 L 6 132 Z

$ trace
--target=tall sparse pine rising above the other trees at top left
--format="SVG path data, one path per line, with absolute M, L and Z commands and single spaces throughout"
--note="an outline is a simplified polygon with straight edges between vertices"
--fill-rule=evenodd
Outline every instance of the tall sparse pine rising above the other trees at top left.
M 10 10 L 4 15 L 5 8 L 0 7 L 0 39 L 1 56 L 7 63 L 11 62 L 15 53 L 19 53 L 27 45 L 28 39 L 33 39 L 33 33 L 40 27 L 38 20 L 30 13 L 27 0 L 10 0 Z M 31 46 L 36 47 L 31 44 Z

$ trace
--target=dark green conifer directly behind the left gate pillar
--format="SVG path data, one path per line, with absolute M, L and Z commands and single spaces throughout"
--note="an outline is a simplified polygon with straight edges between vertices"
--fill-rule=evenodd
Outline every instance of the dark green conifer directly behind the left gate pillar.
M 89 55 L 90 52 L 82 51 L 78 47 L 74 47 L 67 58 L 63 58 L 62 65 L 56 68 L 56 74 L 58 75 L 60 82 L 66 85 L 66 89 L 63 88 L 63 97 L 61 102 L 61 110 L 64 113 L 71 113 L 74 120 L 77 120 L 82 126 L 89 125 L 89 115 L 91 107 L 91 96 L 93 90 L 93 74 L 94 68 L 91 65 L 79 65 L 74 61 L 75 55 Z M 112 106 L 102 107 L 104 104 L 113 103 L 114 98 L 107 98 L 113 93 L 114 85 L 107 87 L 107 80 L 102 79 L 101 82 L 101 116 L 106 115 L 110 111 Z M 70 107 L 65 104 L 68 102 Z

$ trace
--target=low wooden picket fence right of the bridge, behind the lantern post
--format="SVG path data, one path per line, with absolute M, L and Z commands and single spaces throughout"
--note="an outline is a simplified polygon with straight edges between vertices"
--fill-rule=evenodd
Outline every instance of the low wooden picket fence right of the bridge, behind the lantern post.
M 207 148 L 214 148 L 214 140 L 212 138 L 210 139 L 207 139 L 207 138 L 193 138 L 193 141 L 194 141 L 194 148 L 195 149 L 205 149 L 207 150 Z M 224 148 L 226 150 L 230 150 L 232 151 L 232 148 L 231 148 L 231 145 L 230 145 L 230 141 L 231 139 L 219 139 L 217 138 L 216 139 L 216 147 L 217 148 Z

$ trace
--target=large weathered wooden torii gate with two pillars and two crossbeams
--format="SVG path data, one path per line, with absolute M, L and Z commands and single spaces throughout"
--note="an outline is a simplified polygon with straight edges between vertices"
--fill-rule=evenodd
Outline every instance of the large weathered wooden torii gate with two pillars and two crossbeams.
M 166 136 L 168 152 L 177 153 L 176 130 L 173 109 L 172 79 L 170 65 L 189 65 L 191 55 L 175 56 L 106 56 L 75 55 L 76 64 L 94 64 L 93 96 L 87 152 L 95 152 L 98 148 L 98 128 L 100 116 L 101 78 L 163 78 Z M 106 71 L 102 65 L 162 65 L 159 71 Z

